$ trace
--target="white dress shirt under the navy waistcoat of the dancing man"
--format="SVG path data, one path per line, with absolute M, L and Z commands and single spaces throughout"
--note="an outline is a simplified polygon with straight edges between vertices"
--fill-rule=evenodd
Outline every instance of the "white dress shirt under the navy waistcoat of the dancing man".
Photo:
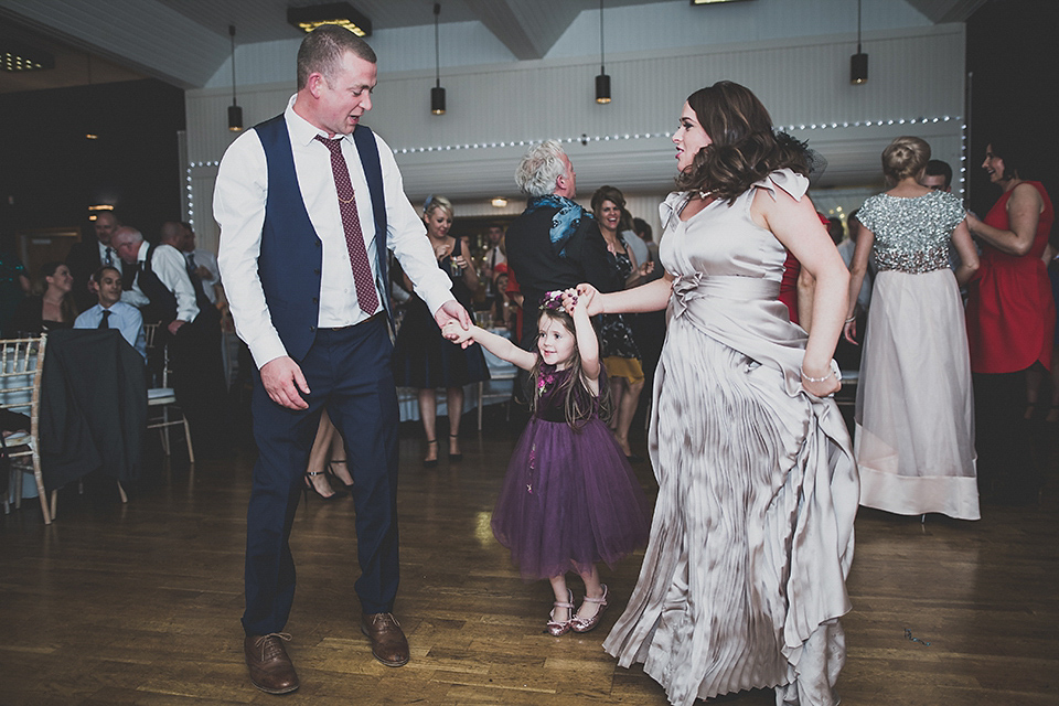
M 320 314 L 317 325 L 353 325 L 372 314 L 362 312 L 356 301 L 353 268 L 350 265 L 345 228 L 342 225 L 331 170 L 331 151 L 313 139 L 318 135 L 328 138 L 328 135 L 295 113 L 296 98 L 297 94 L 288 101 L 284 117 L 290 136 L 298 185 L 309 212 L 309 220 L 323 249 Z M 375 218 L 367 179 L 352 136 L 340 139 L 356 197 L 367 259 L 377 279 Z M 386 199 L 386 246 L 394 250 L 405 274 L 411 279 L 416 293 L 427 302 L 431 312 L 437 312 L 441 304 L 452 299 L 451 281 L 448 275 L 438 268 L 434 248 L 426 237 L 422 218 L 405 196 L 393 151 L 377 135 L 375 141 L 378 146 Z M 287 350 L 272 325 L 257 269 L 267 192 L 268 167 L 265 149 L 257 131 L 247 130 L 228 147 L 221 160 L 213 195 L 213 214 L 221 225 L 217 260 L 228 306 L 235 319 L 235 330 L 249 346 L 258 367 L 287 355 Z M 383 286 L 388 286 L 388 282 L 383 282 Z

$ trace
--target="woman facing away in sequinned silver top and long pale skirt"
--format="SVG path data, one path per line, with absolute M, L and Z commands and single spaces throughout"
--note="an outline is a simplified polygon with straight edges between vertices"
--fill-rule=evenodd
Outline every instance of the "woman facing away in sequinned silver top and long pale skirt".
M 978 268 L 960 200 L 920 185 L 930 146 L 899 137 L 882 151 L 894 188 L 864 202 L 845 336 L 874 250 L 854 450 L 860 504 L 900 515 L 978 518 L 971 359 L 959 285 Z M 949 268 L 950 239 L 960 255 Z

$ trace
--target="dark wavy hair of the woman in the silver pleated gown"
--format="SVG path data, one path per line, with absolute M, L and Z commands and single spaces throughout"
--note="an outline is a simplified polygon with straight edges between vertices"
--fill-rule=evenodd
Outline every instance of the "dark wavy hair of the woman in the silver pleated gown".
M 749 88 L 720 81 L 693 93 L 687 104 L 713 142 L 676 178 L 678 189 L 734 202 L 778 169 L 809 175 L 806 145 L 773 132 L 769 111 Z

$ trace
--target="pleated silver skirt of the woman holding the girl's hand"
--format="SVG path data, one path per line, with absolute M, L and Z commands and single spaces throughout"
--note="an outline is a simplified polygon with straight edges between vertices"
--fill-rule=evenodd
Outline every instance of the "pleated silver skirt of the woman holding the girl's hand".
M 848 451 L 819 426 L 834 429 L 837 410 L 827 403 L 821 421 L 783 371 L 688 319 L 670 321 L 655 379 L 651 539 L 603 648 L 642 662 L 678 706 L 759 687 L 780 705 L 833 706 L 852 557 L 834 509 L 856 507 L 857 492 Z

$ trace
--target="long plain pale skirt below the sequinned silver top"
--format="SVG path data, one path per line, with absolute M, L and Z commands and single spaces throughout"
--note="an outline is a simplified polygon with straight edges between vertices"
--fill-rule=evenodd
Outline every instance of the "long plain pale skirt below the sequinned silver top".
M 965 331 L 949 269 L 876 276 L 857 388 L 862 505 L 980 517 Z

